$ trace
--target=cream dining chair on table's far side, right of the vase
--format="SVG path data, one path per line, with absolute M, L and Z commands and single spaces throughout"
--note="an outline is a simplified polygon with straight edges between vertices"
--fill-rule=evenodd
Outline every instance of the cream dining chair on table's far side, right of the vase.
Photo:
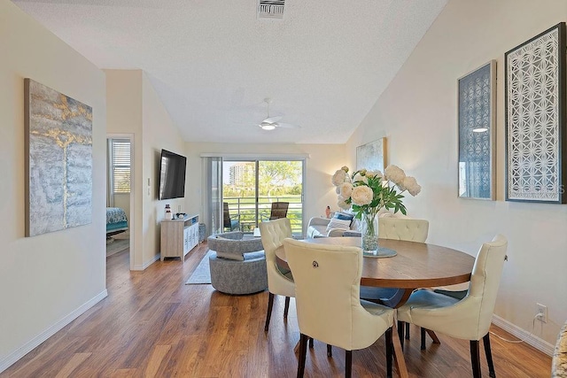
M 408 242 L 425 243 L 429 234 L 428 220 L 414 220 L 411 218 L 378 218 L 378 237 L 382 239 L 404 240 Z M 386 289 L 361 286 L 361 298 L 381 303 L 382 298 L 392 297 L 398 289 Z M 422 345 L 425 343 L 425 330 L 422 328 Z M 439 338 L 430 333 L 434 343 Z M 409 324 L 406 326 L 406 337 L 409 339 Z

